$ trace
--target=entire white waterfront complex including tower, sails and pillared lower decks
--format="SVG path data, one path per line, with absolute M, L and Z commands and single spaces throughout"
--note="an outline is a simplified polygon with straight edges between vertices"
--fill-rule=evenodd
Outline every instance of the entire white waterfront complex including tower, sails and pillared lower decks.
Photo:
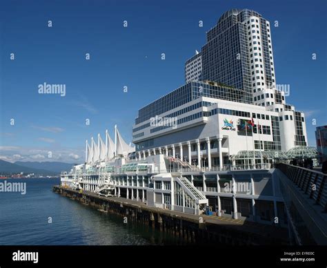
M 186 84 L 140 108 L 132 148 L 115 128 L 64 185 L 161 209 L 286 226 L 273 162 L 306 146 L 304 113 L 277 89 L 270 24 L 229 10 L 186 61 Z M 106 144 L 106 145 L 105 145 Z M 279 220 L 276 221 L 276 218 Z

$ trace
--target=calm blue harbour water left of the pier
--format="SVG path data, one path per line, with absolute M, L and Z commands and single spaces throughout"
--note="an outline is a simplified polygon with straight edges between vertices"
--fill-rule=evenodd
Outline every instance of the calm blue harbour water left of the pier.
M 167 234 L 143 224 L 124 224 L 119 216 L 53 193 L 59 179 L 7 182 L 26 182 L 27 189 L 26 195 L 0 192 L 0 245 L 175 244 Z

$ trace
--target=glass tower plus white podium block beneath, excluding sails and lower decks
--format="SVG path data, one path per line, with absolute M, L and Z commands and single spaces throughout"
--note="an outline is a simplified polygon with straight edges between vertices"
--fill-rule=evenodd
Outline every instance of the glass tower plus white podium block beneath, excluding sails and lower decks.
M 225 12 L 185 70 L 184 86 L 139 110 L 132 130 L 139 157 L 166 152 L 210 168 L 232 164 L 239 151 L 307 145 L 304 113 L 276 88 L 270 23 L 259 13 Z

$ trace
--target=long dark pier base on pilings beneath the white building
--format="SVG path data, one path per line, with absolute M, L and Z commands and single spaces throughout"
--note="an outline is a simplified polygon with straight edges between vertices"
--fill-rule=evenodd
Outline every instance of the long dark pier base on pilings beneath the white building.
M 107 198 L 89 191 L 75 191 L 61 186 L 53 186 L 53 191 L 100 211 L 114 213 L 122 218 L 126 217 L 128 221 L 140 222 L 161 232 L 170 233 L 183 244 L 288 245 L 288 232 L 285 228 L 148 207 L 135 200 Z

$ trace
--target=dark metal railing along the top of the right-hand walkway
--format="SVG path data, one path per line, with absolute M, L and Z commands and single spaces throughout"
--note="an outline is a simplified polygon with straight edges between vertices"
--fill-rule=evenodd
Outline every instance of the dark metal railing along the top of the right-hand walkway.
M 277 169 L 327 211 L 327 174 L 290 164 L 277 164 Z

